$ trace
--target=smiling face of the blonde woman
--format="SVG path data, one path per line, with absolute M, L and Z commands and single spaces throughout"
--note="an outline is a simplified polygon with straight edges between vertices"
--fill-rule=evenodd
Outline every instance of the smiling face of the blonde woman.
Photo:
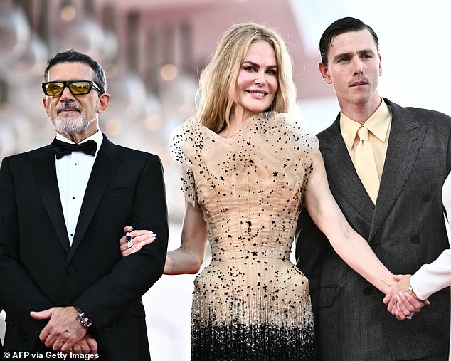
M 270 108 L 277 93 L 277 61 L 271 44 L 254 41 L 241 63 L 233 106 L 235 117 L 246 119 Z

